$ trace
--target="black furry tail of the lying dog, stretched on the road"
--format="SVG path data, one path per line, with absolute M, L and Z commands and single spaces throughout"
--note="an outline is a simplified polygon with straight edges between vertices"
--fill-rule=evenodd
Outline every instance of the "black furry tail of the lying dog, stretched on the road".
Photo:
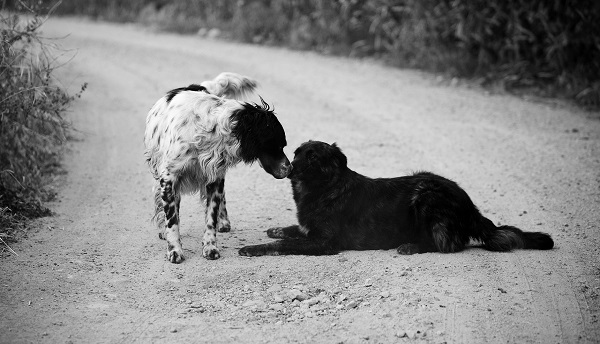
M 479 229 L 483 247 L 490 251 L 510 251 L 513 249 L 550 250 L 554 241 L 549 234 L 542 232 L 523 232 L 513 226 L 496 227 L 494 223 L 481 216 Z

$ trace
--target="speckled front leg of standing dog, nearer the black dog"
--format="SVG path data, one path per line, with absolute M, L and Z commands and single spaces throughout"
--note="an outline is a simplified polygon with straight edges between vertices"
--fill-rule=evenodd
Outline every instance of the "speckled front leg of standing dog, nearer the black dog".
M 217 249 L 217 224 L 219 221 L 219 208 L 222 202 L 223 180 L 219 179 L 206 185 L 206 230 L 202 238 L 202 256 L 206 259 L 221 257 Z M 219 191 L 221 190 L 221 192 Z

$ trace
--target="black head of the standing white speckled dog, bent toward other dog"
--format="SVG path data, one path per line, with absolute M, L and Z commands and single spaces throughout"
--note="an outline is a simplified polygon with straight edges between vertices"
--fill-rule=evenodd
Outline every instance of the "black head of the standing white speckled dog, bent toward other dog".
M 262 105 L 243 103 L 232 115 L 235 122 L 232 134 L 240 143 L 240 157 L 246 163 L 259 161 L 260 166 L 277 179 L 285 178 L 292 170 L 283 152 L 287 145 L 283 126 L 262 98 Z

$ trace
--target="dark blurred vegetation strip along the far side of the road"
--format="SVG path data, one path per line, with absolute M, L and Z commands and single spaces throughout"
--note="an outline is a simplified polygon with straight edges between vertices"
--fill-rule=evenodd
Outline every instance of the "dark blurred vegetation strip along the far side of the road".
M 64 0 L 62 14 L 374 57 L 600 107 L 595 0 Z

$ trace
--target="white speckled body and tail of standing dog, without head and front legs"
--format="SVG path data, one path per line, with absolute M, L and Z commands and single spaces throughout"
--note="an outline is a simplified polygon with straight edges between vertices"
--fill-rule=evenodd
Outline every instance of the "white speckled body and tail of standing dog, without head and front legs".
M 206 199 L 206 185 L 223 178 L 228 168 L 241 161 L 239 142 L 231 134 L 231 115 L 238 101 L 254 92 L 257 83 L 235 73 L 221 73 L 201 83 L 208 92 L 181 91 L 170 102 L 160 98 L 146 118 L 145 157 L 154 178 L 174 176 L 176 194 L 199 192 Z M 228 99 L 227 97 L 234 98 Z M 155 185 L 155 220 L 164 214 L 160 186 Z

